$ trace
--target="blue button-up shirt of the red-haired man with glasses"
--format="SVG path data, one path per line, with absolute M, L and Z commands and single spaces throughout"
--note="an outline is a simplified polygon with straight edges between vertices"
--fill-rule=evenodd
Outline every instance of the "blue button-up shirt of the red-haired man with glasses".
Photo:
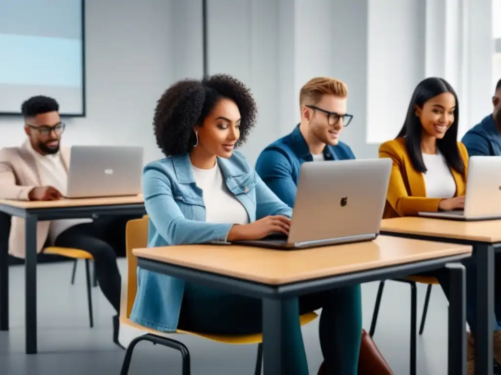
M 324 148 L 326 160 L 354 159 L 350 146 L 339 142 L 336 146 Z M 310 148 L 299 130 L 299 125 L 288 135 L 266 147 L 258 157 L 256 171 L 263 181 L 286 202 L 294 206 L 299 171 L 305 161 L 313 161 Z

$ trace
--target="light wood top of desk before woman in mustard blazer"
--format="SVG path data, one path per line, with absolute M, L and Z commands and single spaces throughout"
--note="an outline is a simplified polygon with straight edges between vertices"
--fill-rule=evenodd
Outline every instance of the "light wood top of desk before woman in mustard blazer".
M 501 242 L 501 220 L 459 221 L 407 216 L 384 219 L 381 230 L 489 243 Z

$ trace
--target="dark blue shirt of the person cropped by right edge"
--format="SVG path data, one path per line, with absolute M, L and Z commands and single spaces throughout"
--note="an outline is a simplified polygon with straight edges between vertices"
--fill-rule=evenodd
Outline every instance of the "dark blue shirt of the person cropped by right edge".
M 497 128 L 492 114 L 489 114 L 479 124 L 469 129 L 461 141 L 466 146 L 469 156 L 501 155 L 501 132 Z

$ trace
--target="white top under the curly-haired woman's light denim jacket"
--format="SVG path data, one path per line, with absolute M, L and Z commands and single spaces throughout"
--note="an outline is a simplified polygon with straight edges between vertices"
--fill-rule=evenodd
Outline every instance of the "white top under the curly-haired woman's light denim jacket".
M 206 222 L 248 224 L 247 211 L 229 191 L 217 162 L 210 169 L 193 166 L 193 175 L 196 185 L 203 190 Z

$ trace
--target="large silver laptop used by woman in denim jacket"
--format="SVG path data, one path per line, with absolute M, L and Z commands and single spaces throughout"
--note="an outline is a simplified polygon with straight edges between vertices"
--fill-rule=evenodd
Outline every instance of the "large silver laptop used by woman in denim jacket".
M 287 250 L 373 240 L 391 164 L 389 158 L 303 163 L 289 235 L 233 243 Z

